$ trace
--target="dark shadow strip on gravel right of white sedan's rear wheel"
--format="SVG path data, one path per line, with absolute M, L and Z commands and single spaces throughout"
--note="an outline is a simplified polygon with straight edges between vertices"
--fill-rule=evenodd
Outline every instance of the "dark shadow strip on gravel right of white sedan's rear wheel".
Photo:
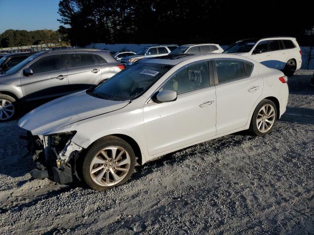
M 286 113 L 280 118 L 280 121 L 313 125 L 314 109 L 288 107 Z

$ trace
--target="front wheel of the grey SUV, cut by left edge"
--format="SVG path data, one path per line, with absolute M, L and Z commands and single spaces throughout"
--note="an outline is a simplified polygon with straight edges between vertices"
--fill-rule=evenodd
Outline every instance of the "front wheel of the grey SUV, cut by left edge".
M 0 94 L 0 121 L 12 120 L 17 110 L 17 103 L 13 97 L 7 94 Z

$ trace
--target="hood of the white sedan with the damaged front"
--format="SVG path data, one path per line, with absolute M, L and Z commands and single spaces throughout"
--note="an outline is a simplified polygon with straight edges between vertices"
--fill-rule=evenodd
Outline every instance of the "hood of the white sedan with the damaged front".
M 21 118 L 19 126 L 33 135 L 45 135 L 79 120 L 121 109 L 128 103 L 97 98 L 82 91 L 39 106 Z

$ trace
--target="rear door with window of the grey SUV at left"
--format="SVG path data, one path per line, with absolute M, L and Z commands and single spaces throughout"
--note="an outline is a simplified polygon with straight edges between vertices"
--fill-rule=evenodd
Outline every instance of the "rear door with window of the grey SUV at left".
M 86 90 L 101 81 L 101 66 L 91 53 L 69 53 L 68 79 L 70 92 Z

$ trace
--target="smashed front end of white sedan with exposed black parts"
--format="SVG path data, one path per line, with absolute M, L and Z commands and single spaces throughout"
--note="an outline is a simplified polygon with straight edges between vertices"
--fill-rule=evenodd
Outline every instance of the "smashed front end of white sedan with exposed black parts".
M 36 168 L 31 171 L 34 178 L 51 178 L 56 183 L 68 184 L 78 177 L 76 160 L 83 150 L 72 141 L 76 132 L 33 136 L 27 132 L 22 139 L 27 140 L 27 149 L 35 161 Z

